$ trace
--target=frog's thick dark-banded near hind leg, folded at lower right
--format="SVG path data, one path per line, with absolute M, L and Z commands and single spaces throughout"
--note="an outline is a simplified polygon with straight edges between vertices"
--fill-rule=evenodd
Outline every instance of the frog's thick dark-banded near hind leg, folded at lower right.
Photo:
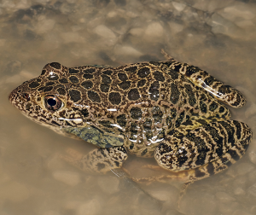
M 170 133 L 169 133 L 170 134 Z M 193 130 L 172 131 L 155 150 L 155 160 L 170 171 L 189 171 L 199 180 L 223 171 L 247 150 L 252 131 L 236 120 L 218 121 Z

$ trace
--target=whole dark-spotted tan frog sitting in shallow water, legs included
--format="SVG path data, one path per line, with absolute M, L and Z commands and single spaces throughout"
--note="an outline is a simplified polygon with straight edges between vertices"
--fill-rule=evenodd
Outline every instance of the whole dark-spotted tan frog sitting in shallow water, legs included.
M 162 53 L 166 61 L 119 67 L 51 62 L 13 90 L 9 101 L 32 121 L 95 144 L 76 160 L 84 171 L 120 168 L 135 154 L 180 173 L 187 187 L 240 160 L 253 133 L 230 119 L 227 106 L 246 103 L 240 91 Z

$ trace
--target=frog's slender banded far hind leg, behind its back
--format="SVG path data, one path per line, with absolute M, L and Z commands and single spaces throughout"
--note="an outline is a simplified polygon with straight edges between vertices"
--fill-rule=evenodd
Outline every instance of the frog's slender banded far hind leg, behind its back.
M 183 74 L 196 86 L 207 90 L 212 96 L 221 102 L 230 105 L 233 108 L 241 108 L 246 99 L 241 95 L 241 92 L 232 88 L 230 85 L 226 85 L 218 79 L 212 77 L 209 73 L 201 70 L 199 67 L 189 65 L 187 63 L 180 63 L 174 60 L 170 55 L 167 55 L 162 50 L 163 55 L 168 59 L 167 62 L 163 62 L 169 69 L 176 71 L 177 73 Z

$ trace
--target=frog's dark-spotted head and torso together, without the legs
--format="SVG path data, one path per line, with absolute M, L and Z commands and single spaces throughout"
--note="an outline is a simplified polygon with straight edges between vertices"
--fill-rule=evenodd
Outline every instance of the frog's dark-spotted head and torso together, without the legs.
M 21 111 L 43 125 L 90 125 L 136 145 L 158 144 L 168 131 L 193 115 L 208 118 L 229 114 L 207 91 L 170 69 L 168 62 L 116 68 L 67 68 L 53 62 L 38 78 L 18 87 L 15 94 L 21 95 L 15 95 L 21 98 Z M 154 146 L 151 149 L 153 153 Z

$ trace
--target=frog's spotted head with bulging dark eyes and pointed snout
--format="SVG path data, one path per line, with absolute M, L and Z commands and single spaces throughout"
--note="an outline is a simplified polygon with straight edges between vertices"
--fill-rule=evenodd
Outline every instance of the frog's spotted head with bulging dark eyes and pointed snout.
M 85 89 L 79 78 L 79 68 L 49 63 L 38 78 L 13 90 L 9 101 L 26 117 L 51 129 L 84 126 L 89 113 L 81 103 Z

